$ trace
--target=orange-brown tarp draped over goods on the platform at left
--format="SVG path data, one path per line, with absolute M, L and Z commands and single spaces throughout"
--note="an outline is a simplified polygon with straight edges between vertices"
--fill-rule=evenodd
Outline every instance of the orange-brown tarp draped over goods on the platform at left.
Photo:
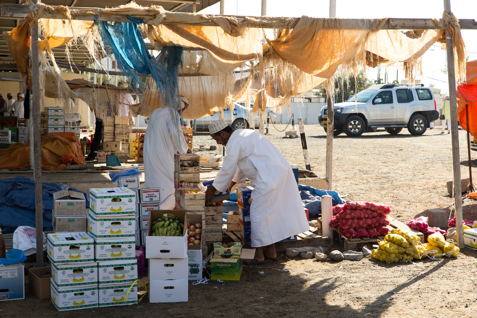
M 41 137 L 41 168 L 63 170 L 71 164 L 85 164 L 75 133 L 48 133 Z M 0 152 L 0 169 L 30 166 L 30 143 L 12 144 Z

